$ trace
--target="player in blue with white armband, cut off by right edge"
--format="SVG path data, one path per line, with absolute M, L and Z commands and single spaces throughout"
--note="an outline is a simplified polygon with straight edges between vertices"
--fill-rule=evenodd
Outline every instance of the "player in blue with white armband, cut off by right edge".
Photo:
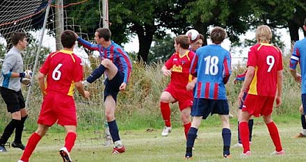
M 304 25 L 303 25 L 303 29 L 304 31 L 306 31 L 306 18 L 304 20 Z M 291 59 L 290 59 L 290 64 L 289 64 L 289 68 L 290 68 L 290 72 L 293 76 L 294 79 L 296 79 L 296 81 L 298 83 L 302 83 L 302 90 L 301 90 L 301 94 L 302 94 L 302 104 L 303 104 L 303 115 L 301 116 L 304 119 L 302 120 L 302 124 L 303 121 L 305 123 L 305 114 L 306 114 L 306 38 L 304 38 L 303 40 L 298 40 L 296 42 L 296 44 L 294 44 L 293 47 L 293 52 L 291 55 Z M 296 65 L 298 65 L 298 63 L 300 63 L 300 74 L 298 74 L 296 72 Z M 305 130 L 306 127 L 303 126 L 303 130 Z M 302 132 L 303 133 L 303 132 Z M 304 132 L 306 134 L 306 132 Z M 303 135 L 305 135 L 303 134 Z

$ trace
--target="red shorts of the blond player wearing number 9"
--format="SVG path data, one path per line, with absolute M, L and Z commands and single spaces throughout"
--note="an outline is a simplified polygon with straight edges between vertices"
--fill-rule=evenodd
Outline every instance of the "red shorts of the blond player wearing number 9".
M 273 111 L 274 100 L 275 97 L 248 94 L 243 102 L 242 111 L 248 111 L 255 117 L 270 115 Z

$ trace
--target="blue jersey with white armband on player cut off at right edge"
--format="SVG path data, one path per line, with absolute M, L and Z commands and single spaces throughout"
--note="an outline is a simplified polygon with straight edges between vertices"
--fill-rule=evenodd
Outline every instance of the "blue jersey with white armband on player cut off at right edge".
M 290 58 L 289 67 L 293 70 L 296 69 L 296 65 L 300 63 L 300 74 L 302 76 L 302 94 L 306 93 L 306 38 L 298 40 L 294 44 L 293 52 Z

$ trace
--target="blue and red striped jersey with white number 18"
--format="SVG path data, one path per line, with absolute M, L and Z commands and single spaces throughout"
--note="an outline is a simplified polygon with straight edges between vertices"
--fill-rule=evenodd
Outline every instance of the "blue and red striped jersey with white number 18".
M 195 98 L 227 99 L 225 83 L 232 74 L 230 51 L 220 44 L 200 47 L 191 63 L 190 72 L 198 77 Z

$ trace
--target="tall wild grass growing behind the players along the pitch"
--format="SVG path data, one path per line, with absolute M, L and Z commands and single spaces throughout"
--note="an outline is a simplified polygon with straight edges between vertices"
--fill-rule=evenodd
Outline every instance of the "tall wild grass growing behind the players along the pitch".
M 293 80 L 289 73 L 289 57 L 284 57 L 284 88 L 282 92 L 282 106 L 275 109 L 277 115 L 293 115 L 298 113 L 300 106 L 300 85 Z M 143 63 L 134 63 L 133 72 L 129 81 L 127 90 L 118 95 L 118 106 L 115 113 L 120 129 L 160 129 L 163 127 L 163 121 L 159 110 L 159 97 L 164 88 L 166 88 L 169 77 L 163 76 L 161 67 L 163 63 L 154 65 L 145 65 Z M 227 99 L 230 104 L 230 113 L 236 115 L 238 109 L 237 95 L 239 94 L 242 83 L 234 85 L 236 74 L 244 72 L 246 67 L 239 65 L 234 68 L 230 81 L 227 83 Z M 97 83 L 102 82 L 102 79 Z M 101 83 L 103 86 L 103 83 Z M 103 87 L 99 88 L 103 90 Z M 24 88 L 24 95 L 26 88 Z M 92 94 L 97 93 L 97 89 L 89 89 Z M 76 93 L 77 94 L 77 93 Z M 104 106 L 101 94 L 95 95 L 96 100 L 100 102 L 89 104 L 79 95 L 75 95 L 79 115 L 79 131 L 97 130 L 104 127 Z M 36 127 L 36 120 L 40 111 L 42 97 L 38 90 L 38 85 L 33 85 L 31 95 L 31 109 L 29 111 L 29 120 L 26 122 L 26 128 L 33 131 Z M 0 132 L 10 120 L 6 113 L 6 104 L 0 99 Z M 180 127 L 179 108 L 177 104 L 171 104 L 172 108 L 172 127 Z M 98 123 L 98 124 L 97 124 Z M 95 124 L 95 127 L 92 125 Z

